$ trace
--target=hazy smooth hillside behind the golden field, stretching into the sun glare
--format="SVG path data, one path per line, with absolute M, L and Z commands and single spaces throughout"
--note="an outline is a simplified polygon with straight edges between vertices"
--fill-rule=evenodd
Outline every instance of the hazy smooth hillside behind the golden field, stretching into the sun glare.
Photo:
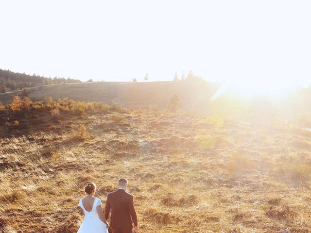
M 222 88 L 219 83 L 166 81 L 166 82 L 97 82 L 42 85 L 28 88 L 32 100 L 68 98 L 76 101 L 99 101 L 132 109 L 165 109 L 173 95 L 181 100 L 182 109 L 189 113 L 217 115 L 236 120 L 252 120 L 258 124 L 283 121 L 299 123 L 311 128 L 311 88 L 297 88 L 281 97 L 264 95 L 243 96 L 227 90 L 213 99 Z M 12 101 L 22 91 L 0 94 L 3 104 Z M 298 122 L 297 119 L 300 118 Z

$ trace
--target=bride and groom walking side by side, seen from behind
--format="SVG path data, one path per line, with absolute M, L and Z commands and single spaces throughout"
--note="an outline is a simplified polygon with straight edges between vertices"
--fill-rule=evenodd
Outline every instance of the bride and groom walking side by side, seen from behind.
M 108 194 L 104 213 L 102 201 L 95 198 L 96 186 L 88 183 L 85 187 L 86 197 L 79 201 L 81 212 L 85 218 L 78 233 L 132 233 L 138 227 L 137 215 L 134 208 L 133 196 L 126 192 L 127 180 L 119 179 L 119 189 Z M 111 210 L 110 227 L 107 222 Z

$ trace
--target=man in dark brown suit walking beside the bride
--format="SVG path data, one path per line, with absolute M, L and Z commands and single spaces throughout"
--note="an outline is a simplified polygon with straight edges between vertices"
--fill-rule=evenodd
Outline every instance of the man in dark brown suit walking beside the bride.
M 126 192 L 127 180 L 119 179 L 119 189 L 108 194 L 104 216 L 108 219 L 111 209 L 110 226 L 112 233 L 132 233 L 138 227 L 133 196 Z

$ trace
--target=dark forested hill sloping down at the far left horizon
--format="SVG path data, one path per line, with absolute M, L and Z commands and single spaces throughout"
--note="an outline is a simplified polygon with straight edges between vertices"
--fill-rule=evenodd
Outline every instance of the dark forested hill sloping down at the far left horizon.
M 26 87 L 34 87 L 44 84 L 78 83 L 79 80 L 70 78 L 46 78 L 36 74 L 28 75 L 11 70 L 0 69 L 0 93 L 21 90 Z

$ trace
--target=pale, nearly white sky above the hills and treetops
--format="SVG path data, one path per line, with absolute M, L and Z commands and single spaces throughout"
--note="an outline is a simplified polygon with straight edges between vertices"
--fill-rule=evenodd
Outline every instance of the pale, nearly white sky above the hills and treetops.
M 311 83 L 306 0 L 0 0 L 0 68 L 80 80 Z M 260 81 L 259 81 L 260 80 Z

